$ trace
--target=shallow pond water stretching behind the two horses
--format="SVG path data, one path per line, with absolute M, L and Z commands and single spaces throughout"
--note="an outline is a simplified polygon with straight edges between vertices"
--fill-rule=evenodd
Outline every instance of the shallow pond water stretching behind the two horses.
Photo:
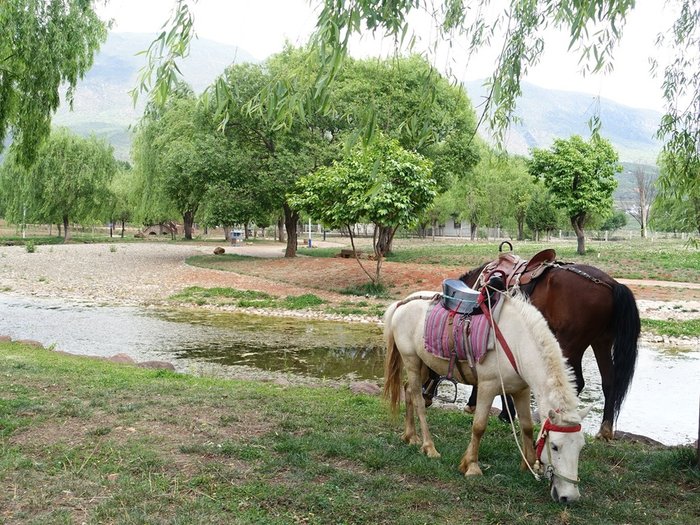
M 81 355 L 126 353 L 166 360 L 188 372 L 198 364 L 225 370 L 246 365 L 327 379 L 377 380 L 383 375 L 381 330 L 373 324 L 311 321 L 207 311 L 96 307 L 0 294 L 0 335 L 34 339 Z M 594 405 L 586 431 L 602 412 L 600 376 L 584 357 L 583 403 Z M 640 347 L 632 387 L 617 428 L 662 443 L 697 439 L 700 349 Z

